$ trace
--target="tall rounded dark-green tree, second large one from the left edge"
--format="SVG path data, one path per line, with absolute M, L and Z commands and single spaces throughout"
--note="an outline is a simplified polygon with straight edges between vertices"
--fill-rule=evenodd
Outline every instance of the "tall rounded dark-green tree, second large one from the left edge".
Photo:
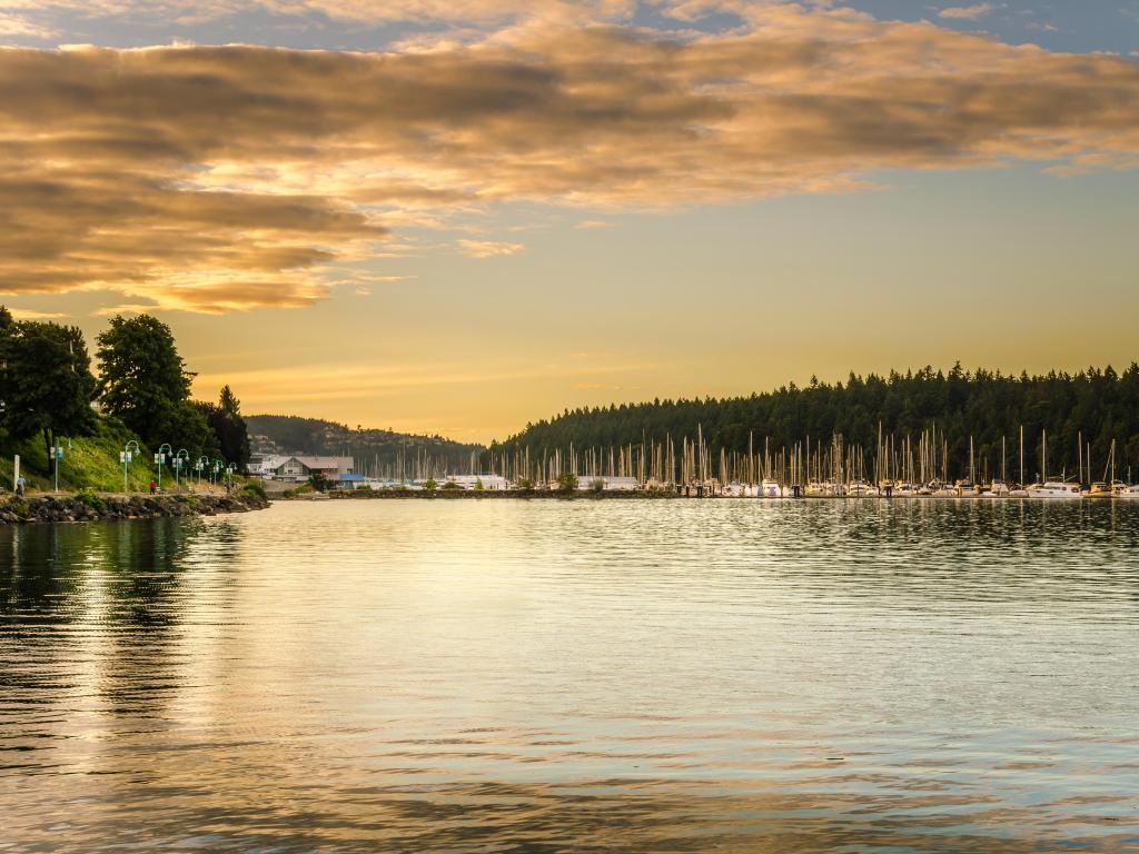
M 180 426 L 197 430 L 185 405 L 190 375 L 174 346 L 174 336 L 148 314 L 116 317 L 99 336 L 99 392 L 106 412 L 117 417 L 145 444 L 189 445 L 189 437 L 172 435 Z

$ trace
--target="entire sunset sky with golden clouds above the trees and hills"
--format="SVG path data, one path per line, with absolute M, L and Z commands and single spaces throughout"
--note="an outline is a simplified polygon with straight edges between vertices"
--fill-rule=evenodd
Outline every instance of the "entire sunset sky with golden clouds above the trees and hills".
M 1139 358 L 1139 0 L 0 0 L 0 301 L 247 413 Z

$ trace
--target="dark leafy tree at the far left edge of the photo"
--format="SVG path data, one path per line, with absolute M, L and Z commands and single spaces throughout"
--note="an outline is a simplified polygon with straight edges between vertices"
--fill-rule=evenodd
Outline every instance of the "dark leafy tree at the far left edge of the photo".
M 48 452 L 59 436 L 95 432 L 96 380 L 79 327 L 14 322 L 5 309 L 0 311 L 0 400 L 9 440 L 42 434 Z

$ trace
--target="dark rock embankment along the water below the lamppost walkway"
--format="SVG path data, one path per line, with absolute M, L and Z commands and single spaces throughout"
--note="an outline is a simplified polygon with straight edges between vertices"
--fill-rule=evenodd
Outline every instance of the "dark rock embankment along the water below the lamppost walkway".
M 212 495 L 179 493 L 166 495 L 75 495 L 11 496 L 0 502 L 0 524 L 35 522 L 99 522 L 103 519 L 157 519 L 174 516 L 215 516 L 269 507 L 248 493 Z

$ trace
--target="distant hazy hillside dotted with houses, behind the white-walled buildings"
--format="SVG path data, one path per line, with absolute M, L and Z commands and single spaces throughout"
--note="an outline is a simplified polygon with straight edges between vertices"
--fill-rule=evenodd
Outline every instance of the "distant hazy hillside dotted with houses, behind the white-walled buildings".
M 482 445 L 442 436 L 417 436 L 297 416 L 246 416 L 254 454 L 302 453 L 352 457 L 372 477 L 419 477 L 467 471 Z

